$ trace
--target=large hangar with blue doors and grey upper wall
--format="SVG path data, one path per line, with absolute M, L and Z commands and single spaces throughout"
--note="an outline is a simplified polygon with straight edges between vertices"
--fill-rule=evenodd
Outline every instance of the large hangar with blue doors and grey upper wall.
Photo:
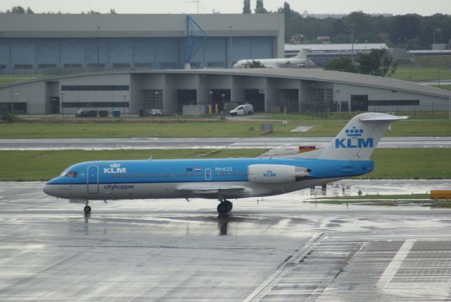
M 191 68 L 284 55 L 283 14 L 2 13 L 0 73 L 180 69 L 202 40 L 192 37 L 202 35 L 201 28 L 208 37 Z

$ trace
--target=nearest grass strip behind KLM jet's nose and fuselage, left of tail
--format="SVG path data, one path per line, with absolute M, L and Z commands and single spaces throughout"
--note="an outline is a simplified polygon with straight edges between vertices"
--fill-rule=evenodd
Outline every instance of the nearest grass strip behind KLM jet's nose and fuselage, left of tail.
M 47 181 L 61 174 L 71 164 L 108 159 L 183 159 L 257 157 L 266 150 L 102 150 L 102 151 L 0 151 L 0 181 Z

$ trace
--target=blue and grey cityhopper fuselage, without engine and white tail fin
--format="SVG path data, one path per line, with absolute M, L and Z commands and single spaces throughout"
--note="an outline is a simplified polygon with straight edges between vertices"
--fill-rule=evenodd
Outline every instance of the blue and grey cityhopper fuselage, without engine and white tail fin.
M 308 176 L 293 183 L 254 183 L 249 166 L 283 165 L 308 169 Z M 225 193 L 230 198 L 276 195 L 302 188 L 367 174 L 373 162 L 330 159 L 239 158 L 239 159 L 165 159 L 81 162 L 68 167 L 49 181 L 44 192 L 60 198 L 218 198 L 196 193 L 206 188 L 249 188 L 245 193 Z M 276 176 L 273 171 L 265 176 Z M 192 190 L 190 190 L 192 189 Z M 228 192 L 228 191 L 224 191 Z

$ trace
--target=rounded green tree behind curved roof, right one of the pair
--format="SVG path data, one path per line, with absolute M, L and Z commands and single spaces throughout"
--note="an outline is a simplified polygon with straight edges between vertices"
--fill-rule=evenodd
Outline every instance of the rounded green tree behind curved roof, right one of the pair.
M 396 71 L 396 65 L 393 64 L 393 59 L 387 56 L 383 49 L 373 49 L 369 54 L 361 54 L 356 61 L 359 64 L 359 73 L 365 75 L 384 77 Z

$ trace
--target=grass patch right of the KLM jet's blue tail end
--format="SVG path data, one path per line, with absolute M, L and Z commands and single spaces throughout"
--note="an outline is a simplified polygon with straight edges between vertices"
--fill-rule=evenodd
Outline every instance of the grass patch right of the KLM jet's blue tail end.
M 451 149 L 376 149 L 362 179 L 451 179 Z

